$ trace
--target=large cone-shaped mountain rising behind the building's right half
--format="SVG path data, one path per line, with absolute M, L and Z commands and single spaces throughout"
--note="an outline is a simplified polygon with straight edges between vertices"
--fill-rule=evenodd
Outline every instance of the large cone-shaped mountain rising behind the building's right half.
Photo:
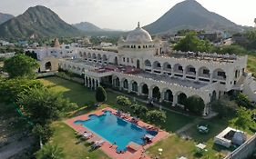
M 144 26 L 144 28 L 151 34 L 158 34 L 174 33 L 181 29 L 241 31 L 242 26 L 208 11 L 195 0 L 186 0 L 174 5 L 165 15 L 162 15 L 152 24 Z

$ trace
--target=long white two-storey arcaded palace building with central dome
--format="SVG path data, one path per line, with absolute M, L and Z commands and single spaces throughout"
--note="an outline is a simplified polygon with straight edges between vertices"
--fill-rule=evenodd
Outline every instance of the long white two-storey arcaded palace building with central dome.
M 247 55 L 179 51 L 165 55 L 161 47 L 161 41 L 152 40 L 138 24 L 126 40 L 119 39 L 116 51 L 77 48 L 75 59 L 68 60 L 62 55 L 52 55 L 60 58 L 62 69 L 85 75 L 87 87 L 111 84 L 174 106 L 182 103 L 182 95 L 199 95 L 208 105 L 231 90 L 244 91 L 244 84 L 248 78 L 251 80 L 251 76 L 244 72 Z M 249 90 L 252 94 L 253 89 Z M 207 106 L 204 113 L 208 114 Z

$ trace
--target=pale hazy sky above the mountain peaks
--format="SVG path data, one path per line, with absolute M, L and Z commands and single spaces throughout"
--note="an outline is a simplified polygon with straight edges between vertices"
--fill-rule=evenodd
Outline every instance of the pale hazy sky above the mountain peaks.
M 134 29 L 148 25 L 182 0 L 0 0 L 0 12 L 21 15 L 30 6 L 45 5 L 69 24 L 90 22 L 101 28 Z M 197 0 L 238 25 L 254 26 L 255 0 Z

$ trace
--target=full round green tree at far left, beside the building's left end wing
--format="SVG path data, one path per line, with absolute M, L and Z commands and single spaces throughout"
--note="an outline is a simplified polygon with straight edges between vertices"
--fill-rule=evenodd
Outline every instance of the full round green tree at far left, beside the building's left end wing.
M 26 55 L 18 54 L 5 60 L 4 71 L 11 78 L 26 76 L 27 78 L 36 77 L 36 69 L 39 68 L 35 59 Z

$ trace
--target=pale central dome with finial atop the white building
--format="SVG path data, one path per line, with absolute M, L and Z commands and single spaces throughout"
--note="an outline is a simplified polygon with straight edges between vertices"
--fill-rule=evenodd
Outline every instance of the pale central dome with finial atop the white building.
M 137 42 L 148 43 L 148 42 L 152 42 L 152 38 L 146 30 L 142 29 L 139 26 L 139 23 L 138 23 L 138 27 L 128 34 L 126 41 L 131 43 L 137 43 Z

